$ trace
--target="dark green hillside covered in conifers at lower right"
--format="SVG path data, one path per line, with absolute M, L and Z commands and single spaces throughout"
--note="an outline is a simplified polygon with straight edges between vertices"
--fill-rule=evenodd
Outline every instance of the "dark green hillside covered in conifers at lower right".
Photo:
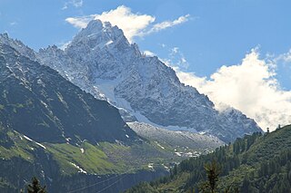
M 265 134 L 256 132 L 199 158 L 186 159 L 171 175 L 143 183 L 130 192 L 203 192 L 206 163 L 216 161 L 217 192 L 289 192 L 291 126 Z M 200 190 L 200 191 L 199 191 Z

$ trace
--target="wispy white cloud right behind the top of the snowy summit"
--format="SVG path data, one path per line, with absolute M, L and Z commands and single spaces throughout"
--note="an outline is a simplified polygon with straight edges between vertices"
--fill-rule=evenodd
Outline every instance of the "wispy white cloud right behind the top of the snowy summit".
M 183 24 L 188 21 L 190 15 L 180 16 L 174 21 L 166 21 L 155 24 L 156 17 L 149 14 L 133 13 L 129 7 L 125 5 L 118 6 L 116 9 L 102 14 L 90 14 L 82 17 L 68 17 L 65 19 L 69 24 L 73 24 L 77 28 L 84 28 L 90 20 L 99 19 L 103 22 L 110 22 L 121 28 L 125 37 L 129 42 L 133 41 L 136 36 L 145 36 L 173 27 L 177 24 Z

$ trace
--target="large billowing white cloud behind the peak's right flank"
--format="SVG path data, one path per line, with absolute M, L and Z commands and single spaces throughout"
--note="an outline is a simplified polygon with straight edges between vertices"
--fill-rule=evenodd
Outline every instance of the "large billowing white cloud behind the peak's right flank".
M 181 82 L 194 86 L 223 111 L 226 104 L 255 119 L 263 130 L 291 123 L 291 92 L 283 91 L 276 80 L 276 63 L 260 59 L 253 49 L 242 63 L 222 66 L 206 77 L 175 69 Z

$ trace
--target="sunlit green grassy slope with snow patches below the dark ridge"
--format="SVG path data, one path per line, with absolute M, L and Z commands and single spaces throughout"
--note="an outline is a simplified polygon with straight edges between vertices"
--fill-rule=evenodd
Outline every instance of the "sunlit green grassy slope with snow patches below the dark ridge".
M 35 151 L 43 150 L 52 155 L 64 175 L 80 172 L 81 169 L 98 175 L 124 173 L 128 170 L 135 172 L 138 169 L 148 169 L 149 163 L 161 165 L 175 159 L 172 150 L 163 150 L 150 141 L 135 143 L 132 146 L 109 142 L 92 145 L 87 141 L 81 145 L 43 143 L 44 149 L 14 130 L 7 131 L 7 136 L 11 144 L 7 147 L 0 145 L 1 159 L 22 158 L 33 163 Z

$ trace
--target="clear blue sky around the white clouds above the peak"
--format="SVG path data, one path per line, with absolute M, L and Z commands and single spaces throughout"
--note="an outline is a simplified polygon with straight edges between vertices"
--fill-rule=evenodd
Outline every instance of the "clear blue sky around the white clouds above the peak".
M 77 33 L 65 18 L 101 14 L 125 5 L 134 13 L 154 15 L 156 22 L 190 14 L 186 24 L 135 38 L 135 42 L 142 50 L 164 58 L 168 49 L 178 47 L 189 63 L 187 70 L 200 76 L 209 76 L 223 64 L 239 63 L 256 46 L 263 56 L 286 53 L 291 48 L 291 2 L 287 0 L 83 0 L 79 6 L 74 2 L 81 1 L 0 0 L 0 32 L 7 31 L 38 49 L 67 42 Z M 162 43 L 167 49 L 160 46 Z M 290 75 L 284 68 L 279 70 L 282 86 L 291 89 Z

